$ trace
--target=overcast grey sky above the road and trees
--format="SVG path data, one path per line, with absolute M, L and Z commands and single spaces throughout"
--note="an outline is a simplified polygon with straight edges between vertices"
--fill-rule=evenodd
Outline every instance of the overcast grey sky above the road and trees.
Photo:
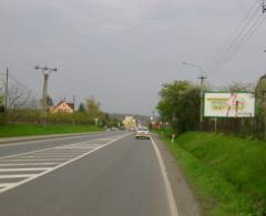
M 260 0 L 257 0 L 259 2 Z M 0 69 L 41 94 L 35 64 L 58 66 L 54 100 L 94 95 L 106 112 L 152 113 L 162 83 L 255 82 L 266 72 L 266 23 L 228 63 L 215 56 L 254 0 L 0 0 Z M 266 19 L 266 18 L 265 18 Z

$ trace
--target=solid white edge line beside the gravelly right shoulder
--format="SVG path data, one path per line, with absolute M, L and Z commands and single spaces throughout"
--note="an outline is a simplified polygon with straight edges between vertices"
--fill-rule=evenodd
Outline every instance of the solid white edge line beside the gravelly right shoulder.
M 168 203 L 170 203 L 171 215 L 172 216 L 178 216 L 177 206 L 175 204 L 173 191 L 172 191 L 171 183 L 170 183 L 170 179 L 168 179 L 168 176 L 167 176 L 166 167 L 165 167 L 164 162 L 163 162 L 163 157 L 162 157 L 162 155 L 160 153 L 160 150 L 158 150 L 158 147 L 157 147 L 157 145 L 156 145 L 156 143 L 153 140 L 152 136 L 151 136 L 151 141 L 152 141 L 153 148 L 155 151 L 155 154 L 157 156 L 157 161 L 158 161 L 160 168 L 161 168 L 161 172 L 162 172 L 162 176 L 163 176 L 163 179 L 164 179 L 164 185 L 165 185 L 165 189 L 166 189 L 166 194 L 167 194 L 167 198 L 168 198 Z

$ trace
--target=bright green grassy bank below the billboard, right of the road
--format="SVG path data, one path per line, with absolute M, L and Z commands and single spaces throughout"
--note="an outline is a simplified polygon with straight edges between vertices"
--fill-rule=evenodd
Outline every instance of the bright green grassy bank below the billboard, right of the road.
M 266 210 L 266 143 L 190 132 L 164 135 L 206 215 L 259 215 Z

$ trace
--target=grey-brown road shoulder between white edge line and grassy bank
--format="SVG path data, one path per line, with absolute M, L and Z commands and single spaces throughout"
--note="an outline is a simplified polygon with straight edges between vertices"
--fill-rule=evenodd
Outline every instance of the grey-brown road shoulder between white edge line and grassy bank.
M 193 191 L 178 167 L 176 158 L 171 154 L 167 146 L 160 140 L 157 134 L 153 134 L 153 140 L 163 157 L 168 181 L 173 191 L 174 199 L 180 216 L 200 216 L 200 205 Z

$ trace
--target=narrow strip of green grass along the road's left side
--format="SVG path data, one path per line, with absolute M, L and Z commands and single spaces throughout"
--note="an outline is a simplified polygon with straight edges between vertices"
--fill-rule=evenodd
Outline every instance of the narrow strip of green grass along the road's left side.
M 0 125 L 0 137 L 50 135 L 68 133 L 99 132 L 102 128 L 94 125 L 34 125 L 34 124 L 10 124 Z

